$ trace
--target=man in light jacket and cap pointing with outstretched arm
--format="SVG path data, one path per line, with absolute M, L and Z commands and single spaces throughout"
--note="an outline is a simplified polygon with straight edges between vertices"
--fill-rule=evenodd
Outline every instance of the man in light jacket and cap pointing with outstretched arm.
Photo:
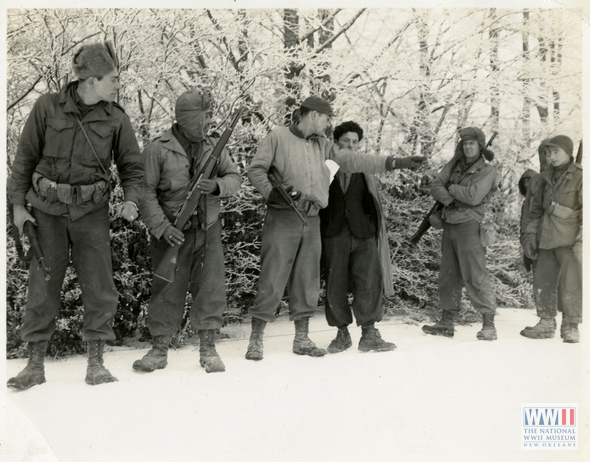
M 333 116 L 330 103 L 310 96 L 301 103 L 300 120 L 279 127 L 262 140 L 248 167 L 248 178 L 268 201 L 262 230 L 261 269 L 252 315 L 252 334 L 246 359 L 263 357 L 262 338 L 267 322 L 274 321 L 285 286 L 289 284 L 290 319 L 295 322 L 293 352 L 323 356 L 308 337 L 320 291 L 320 219 L 318 212 L 328 205 L 331 159 L 348 173 L 383 172 L 394 168 L 417 168 L 424 157 L 395 159 L 392 156 L 360 155 L 340 149 L 323 135 Z M 276 172 L 296 207 L 306 216 L 305 226 L 287 205 L 277 187 L 270 183 L 269 171 Z

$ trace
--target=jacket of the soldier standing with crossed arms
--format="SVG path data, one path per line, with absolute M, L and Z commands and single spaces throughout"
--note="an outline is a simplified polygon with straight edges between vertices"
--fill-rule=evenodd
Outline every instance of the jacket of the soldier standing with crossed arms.
M 496 169 L 481 156 L 467 170 L 465 156 L 454 157 L 432 181 L 430 195 L 444 205 L 442 219 L 447 223 L 481 221 L 486 203 L 495 192 Z

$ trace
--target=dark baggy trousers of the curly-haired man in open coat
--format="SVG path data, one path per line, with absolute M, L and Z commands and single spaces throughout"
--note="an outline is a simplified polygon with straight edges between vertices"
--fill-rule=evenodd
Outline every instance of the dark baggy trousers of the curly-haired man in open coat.
M 347 326 L 352 313 L 359 326 L 383 319 L 383 275 L 375 236 L 357 238 L 345 223 L 340 233 L 322 239 L 326 277 L 326 320 Z M 348 292 L 352 293 L 352 312 Z

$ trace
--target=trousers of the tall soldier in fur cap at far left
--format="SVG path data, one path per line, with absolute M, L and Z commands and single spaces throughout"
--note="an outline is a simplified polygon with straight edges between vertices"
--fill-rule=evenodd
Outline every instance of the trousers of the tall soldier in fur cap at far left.
M 108 205 L 72 221 L 33 208 L 37 238 L 49 268 L 49 280 L 33 259 L 21 337 L 25 342 L 49 340 L 55 331 L 60 293 L 71 259 L 84 303 L 84 341 L 114 340 L 113 319 L 119 294 L 113 281 Z

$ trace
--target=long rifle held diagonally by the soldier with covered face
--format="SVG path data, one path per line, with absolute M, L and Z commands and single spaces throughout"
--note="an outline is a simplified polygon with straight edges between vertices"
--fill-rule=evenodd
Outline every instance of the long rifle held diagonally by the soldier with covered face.
M 176 219 L 174 220 L 174 227 L 180 231 L 184 231 L 191 226 L 190 219 L 193 216 L 193 213 L 197 209 L 199 205 L 199 201 L 201 200 L 201 191 L 197 189 L 197 184 L 201 180 L 201 178 L 211 179 L 216 173 L 217 170 L 217 162 L 219 161 L 219 157 L 225 148 L 225 145 L 229 141 L 229 137 L 234 131 L 238 120 L 240 120 L 242 114 L 242 109 L 238 109 L 238 112 L 234 116 L 233 120 L 231 121 L 230 125 L 224 130 L 221 138 L 213 148 L 213 152 L 205 162 L 203 169 L 201 170 L 199 175 L 196 175 L 196 180 L 191 185 L 189 189 L 188 196 Z M 166 251 L 164 252 L 164 256 L 158 267 L 154 271 L 154 276 L 159 277 L 160 279 L 164 279 L 166 282 L 173 282 L 174 281 L 174 274 L 176 273 L 176 264 L 178 263 L 178 252 L 180 250 L 179 245 L 174 247 L 168 246 Z

